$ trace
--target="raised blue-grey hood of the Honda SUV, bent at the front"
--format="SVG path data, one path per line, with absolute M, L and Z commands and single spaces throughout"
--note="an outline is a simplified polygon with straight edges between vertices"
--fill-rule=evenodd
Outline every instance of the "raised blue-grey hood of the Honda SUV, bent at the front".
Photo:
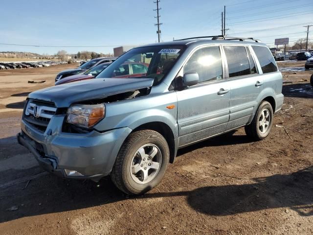
M 96 78 L 48 87 L 32 92 L 28 97 L 53 102 L 58 108 L 69 107 L 79 101 L 151 87 L 153 81 L 153 78 Z

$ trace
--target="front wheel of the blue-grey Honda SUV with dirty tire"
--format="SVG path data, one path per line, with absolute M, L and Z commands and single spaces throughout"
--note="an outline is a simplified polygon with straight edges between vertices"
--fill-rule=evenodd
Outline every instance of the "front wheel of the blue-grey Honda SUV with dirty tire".
M 169 155 L 168 144 L 158 132 L 131 133 L 117 155 L 111 172 L 112 182 L 127 194 L 143 194 L 161 182 Z

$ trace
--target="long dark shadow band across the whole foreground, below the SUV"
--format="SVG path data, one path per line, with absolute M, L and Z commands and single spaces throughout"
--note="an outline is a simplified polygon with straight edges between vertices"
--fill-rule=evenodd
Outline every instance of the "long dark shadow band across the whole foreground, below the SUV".
M 18 170 L 0 172 L 0 177 Z M 223 177 L 223 176 L 221 176 Z M 98 183 L 64 180 L 51 174 L 40 175 L 9 187 L 0 186 L 0 223 L 25 216 L 72 211 L 124 201 L 185 196 L 196 211 L 212 216 L 234 215 L 288 207 L 301 216 L 313 215 L 313 166 L 291 174 L 252 179 L 242 185 L 206 186 L 177 192 L 148 192 L 127 197 L 107 177 Z M 14 196 L 12 196 L 14 195 Z M 7 211 L 12 206 L 16 211 Z

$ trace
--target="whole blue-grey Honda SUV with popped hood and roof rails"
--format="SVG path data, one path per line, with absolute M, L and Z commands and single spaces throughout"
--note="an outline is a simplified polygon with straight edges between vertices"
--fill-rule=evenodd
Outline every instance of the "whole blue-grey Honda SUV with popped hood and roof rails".
M 266 44 L 239 40 L 133 48 L 96 79 L 30 93 L 18 142 L 56 175 L 111 175 L 123 192 L 142 194 L 160 183 L 179 148 L 243 126 L 263 140 L 283 105 L 282 74 Z M 119 77 L 128 62 L 149 64 L 146 74 Z

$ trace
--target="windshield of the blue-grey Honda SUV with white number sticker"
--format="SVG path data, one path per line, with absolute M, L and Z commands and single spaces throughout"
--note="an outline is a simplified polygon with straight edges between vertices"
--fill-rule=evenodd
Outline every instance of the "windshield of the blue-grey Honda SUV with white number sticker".
M 172 69 L 183 46 L 153 46 L 134 48 L 120 56 L 97 78 L 154 78 L 154 85 Z

